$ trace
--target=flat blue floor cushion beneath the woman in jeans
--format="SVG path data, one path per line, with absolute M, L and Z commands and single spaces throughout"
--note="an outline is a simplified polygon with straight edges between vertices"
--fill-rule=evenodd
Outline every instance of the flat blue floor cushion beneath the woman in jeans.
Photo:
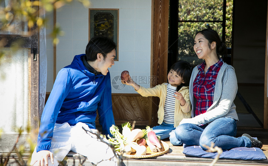
M 206 152 L 200 146 L 183 145 L 183 154 L 202 158 L 214 159 L 218 153 Z M 266 159 L 265 154 L 260 148 L 239 147 L 230 150 L 223 150 L 220 159 L 241 159 L 241 160 L 263 160 Z

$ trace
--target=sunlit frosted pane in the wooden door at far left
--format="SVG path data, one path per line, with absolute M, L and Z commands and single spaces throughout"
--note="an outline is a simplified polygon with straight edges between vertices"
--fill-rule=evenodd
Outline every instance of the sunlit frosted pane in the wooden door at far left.
M 10 48 L 4 48 L 11 50 Z M 12 55 L 4 55 L 0 61 L 0 129 L 4 133 L 16 133 L 22 127 L 26 131 L 30 117 L 30 49 L 23 48 Z

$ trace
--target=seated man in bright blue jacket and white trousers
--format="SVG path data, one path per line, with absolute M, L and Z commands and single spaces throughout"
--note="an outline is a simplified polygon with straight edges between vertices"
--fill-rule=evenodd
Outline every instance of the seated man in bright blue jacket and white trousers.
M 114 65 L 115 49 L 112 40 L 95 36 L 86 54 L 75 55 L 59 71 L 41 117 L 31 165 L 58 165 L 70 150 L 94 164 L 117 165 L 112 149 L 82 128 L 97 132 L 98 110 L 103 134 L 111 135 L 109 128 L 115 123 L 108 68 Z

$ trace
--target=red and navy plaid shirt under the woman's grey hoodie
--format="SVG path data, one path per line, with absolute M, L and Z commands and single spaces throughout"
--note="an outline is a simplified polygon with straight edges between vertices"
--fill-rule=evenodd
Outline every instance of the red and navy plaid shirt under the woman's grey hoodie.
M 220 59 L 216 64 L 210 66 L 204 74 L 206 62 L 198 66 L 199 73 L 197 74 L 194 84 L 193 92 L 196 98 L 195 116 L 205 113 L 213 103 L 214 89 L 216 79 L 223 65 L 223 59 Z

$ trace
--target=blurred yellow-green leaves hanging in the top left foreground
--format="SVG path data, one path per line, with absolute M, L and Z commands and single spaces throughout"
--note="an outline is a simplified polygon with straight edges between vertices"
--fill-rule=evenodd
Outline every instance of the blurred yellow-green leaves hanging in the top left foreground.
M 66 3 L 73 0 L 10 0 L 0 1 L 0 34 L 16 34 L 31 36 L 39 32 L 47 21 L 42 17 L 41 13 L 53 12 L 53 9 L 58 9 Z M 85 7 L 89 7 L 89 0 L 77 0 Z M 19 25 L 19 26 L 16 26 Z M 18 27 L 22 27 L 18 29 Z M 58 44 L 57 35 L 62 36 L 63 31 L 60 30 L 58 24 L 53 28 L 50 36 L 53 38 L 53 43 Z M 0 38 L 0 48 L 5 47 L 7 39 Z M 14 41 L 12 47 L 19 48 L 20 43 Z M 3 49 L 0 50 L 0 59 L 8 54 Z

